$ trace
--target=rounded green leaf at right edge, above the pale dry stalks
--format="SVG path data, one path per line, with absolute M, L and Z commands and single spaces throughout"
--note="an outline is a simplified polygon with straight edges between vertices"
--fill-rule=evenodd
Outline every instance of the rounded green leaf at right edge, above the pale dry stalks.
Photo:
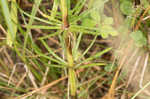
M 130 34 L 130 36 L 134 40 L 136 46 L 138 46 L 138 47 L 142 47 L 142 46 L 145 46 L 147 44 L 146 37 L 144 36 L 143 32 L 141 32 L 139 30 L 132 32 Z

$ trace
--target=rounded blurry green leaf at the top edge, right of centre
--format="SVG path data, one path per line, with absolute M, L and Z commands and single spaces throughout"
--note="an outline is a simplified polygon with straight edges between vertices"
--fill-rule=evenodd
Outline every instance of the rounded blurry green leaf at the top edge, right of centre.
M 134 13 L 134 8 L 132 6 L 132 2 L 124 0 L 120 4 L 120 10 L 125 15 L 132 15 Z

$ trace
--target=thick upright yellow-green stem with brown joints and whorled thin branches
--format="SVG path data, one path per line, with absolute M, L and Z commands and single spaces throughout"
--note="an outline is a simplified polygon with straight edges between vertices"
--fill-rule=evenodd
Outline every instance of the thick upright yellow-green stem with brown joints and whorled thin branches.
M 65 45 L 66 45 L 66 58 L 68 61 L 68 75 L 69 75 L 69 86 L 71 90 L 71 96 L 76 96 L 76 74 L 74 67 L 74 59 L 72 55 L 72 41 L 71 41 L 71 34 L 68 30 L 69 22 L 68 22 L 68 7 L 67 7 L 67 0 L 61 0 L 61 9 L 62 9 L 62 21 L 63 21 L 63 30 L 65 34 Z

